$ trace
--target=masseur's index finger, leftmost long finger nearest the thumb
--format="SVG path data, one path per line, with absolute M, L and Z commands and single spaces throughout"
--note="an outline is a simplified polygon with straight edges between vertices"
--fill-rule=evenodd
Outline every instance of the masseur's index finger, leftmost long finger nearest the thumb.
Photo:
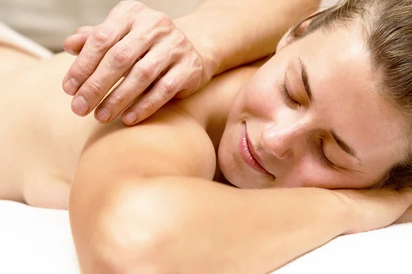
M 130 31 L 133 22 L 125 20 L 125 14 L 128 13 L 124 12 L 124 5 L 118 6 L 119 8 L 113 9 L 102 25 L 95 28 L 89 39 L 84 43 L 78 58 L 76 58 L 67 72 L 63 80 L 63 90 L 69 95 L 76 94 L 80 86 L 95 71 L 108 49 L 111 49 L 117 41 Z M 133 16 L 133 14 L 129 16 Z M 83 106 L 81 110 L 77 113 L 87 113 L 87 105 Z

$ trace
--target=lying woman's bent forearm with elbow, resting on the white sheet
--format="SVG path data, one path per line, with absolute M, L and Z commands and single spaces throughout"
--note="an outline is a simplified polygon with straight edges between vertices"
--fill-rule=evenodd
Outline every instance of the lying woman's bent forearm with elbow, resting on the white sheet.
M 268 273 L 352 222 L 329 190 L 239 190 L 187 177 L 84 183 L 70 208 L 84 274 Z

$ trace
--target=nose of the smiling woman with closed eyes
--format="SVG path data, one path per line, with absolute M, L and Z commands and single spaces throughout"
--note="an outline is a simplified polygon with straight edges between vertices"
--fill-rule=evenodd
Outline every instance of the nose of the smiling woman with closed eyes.
M 278 159 L 291 158 L 306 144 L 309 130 L 308 121 L 268 123 L 262 132 L 262 149 Z

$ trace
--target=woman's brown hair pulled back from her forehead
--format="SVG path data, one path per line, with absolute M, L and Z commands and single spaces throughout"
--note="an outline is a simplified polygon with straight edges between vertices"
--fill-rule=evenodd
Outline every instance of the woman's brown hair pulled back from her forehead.
M 302 28 L 308 20 L 308 27 Z M 359 21 L 373 69 L 381 76 L 377 86 L 382 97 L 412 124 L 412 0 L 343 0 L 306 18 L 292 29 L 290 38 L 300 39 L 318 29 L 349 27 Z M 411 129 L 405 129 L 407 138 Z M 411 148 L 412 142 L 403 160 L 387 171 L 377 186 L 412 186 Z

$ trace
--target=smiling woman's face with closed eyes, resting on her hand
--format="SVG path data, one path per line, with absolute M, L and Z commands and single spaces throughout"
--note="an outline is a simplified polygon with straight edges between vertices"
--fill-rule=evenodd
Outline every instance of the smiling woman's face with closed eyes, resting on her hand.
M 238 93 L 219 148 L 241 188 L 367 188 L 406 151 L 402 116 L 378 94 L 358 27 L 282 48 Z

